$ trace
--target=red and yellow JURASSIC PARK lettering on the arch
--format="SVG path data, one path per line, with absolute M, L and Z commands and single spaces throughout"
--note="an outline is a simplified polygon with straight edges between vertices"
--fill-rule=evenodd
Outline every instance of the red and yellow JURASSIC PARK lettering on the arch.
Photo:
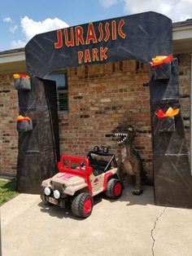
M 97 26 L 98 25 L 98 26 Z M 89 46 L 92 44 L 92 49 L 85 49 L 85 51 L 78 51 L 78 64 L 86 64 L 91 62 L 107 60 L 108 47 L 94 47 L 101 42 L 109 40 L 118 40 L 119 38 L 126 38 L 126 33 L 123 32 L 124 19 L 121 19 L 118 24 L 116 20 L 111 20 L 109 23 L 99 22 L 99 24 L 88 24 L 87 29 L 82 26 L 76 26 L 70 29 L 59 29 L 57 31 L 57 42 L 55 42 L 55 49 L 61 47 L 73 46 Z M 124 29 L 125 30 L 125 29 Z

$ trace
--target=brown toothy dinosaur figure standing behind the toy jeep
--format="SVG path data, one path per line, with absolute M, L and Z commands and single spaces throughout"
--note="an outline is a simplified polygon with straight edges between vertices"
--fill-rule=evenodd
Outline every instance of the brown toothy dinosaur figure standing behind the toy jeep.
M 118 138 L 117 143 L 120 146 L 120 158 L 118 161 L 118 169 L 120 171 L 120 179 L 124 179 L 125 174 L 129 174 L 135 178 L 135 188 L 133 195 L 142 194 L 142 164 L 133 149 L 133 139 L 136 132 L 133 126 L 124 122 L 112 130 L 112 135 Z

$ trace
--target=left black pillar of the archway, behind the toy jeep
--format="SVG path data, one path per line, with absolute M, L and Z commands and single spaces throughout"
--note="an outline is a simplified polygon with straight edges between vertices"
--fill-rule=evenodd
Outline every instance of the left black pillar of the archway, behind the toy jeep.
M 17 163 L 19 192 L 41 192 L 41 181 L 57 172 L 59 125 L 55 82 L 32 77 L 30 90 L 18 90 L 20 115 L 30 117 L 33 130 L 20 127 Z M 26 128 L 26 127 L 25 127 Z

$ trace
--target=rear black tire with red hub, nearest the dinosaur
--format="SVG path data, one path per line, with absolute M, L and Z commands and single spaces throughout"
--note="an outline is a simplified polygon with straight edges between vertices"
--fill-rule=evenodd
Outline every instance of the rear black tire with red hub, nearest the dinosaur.
M 119 179 L 110 179 L 107 183 L 106 196 L 112 199 L 119 198 L 123 191 L 123 185 Z

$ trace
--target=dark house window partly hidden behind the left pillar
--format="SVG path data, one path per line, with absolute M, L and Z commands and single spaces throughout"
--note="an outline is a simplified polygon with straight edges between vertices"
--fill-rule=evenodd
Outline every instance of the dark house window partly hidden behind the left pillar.
M 68 73 L 64 70 L 53 71 L 44 78 L 56 82 L 58 111 L 68 111 Z

